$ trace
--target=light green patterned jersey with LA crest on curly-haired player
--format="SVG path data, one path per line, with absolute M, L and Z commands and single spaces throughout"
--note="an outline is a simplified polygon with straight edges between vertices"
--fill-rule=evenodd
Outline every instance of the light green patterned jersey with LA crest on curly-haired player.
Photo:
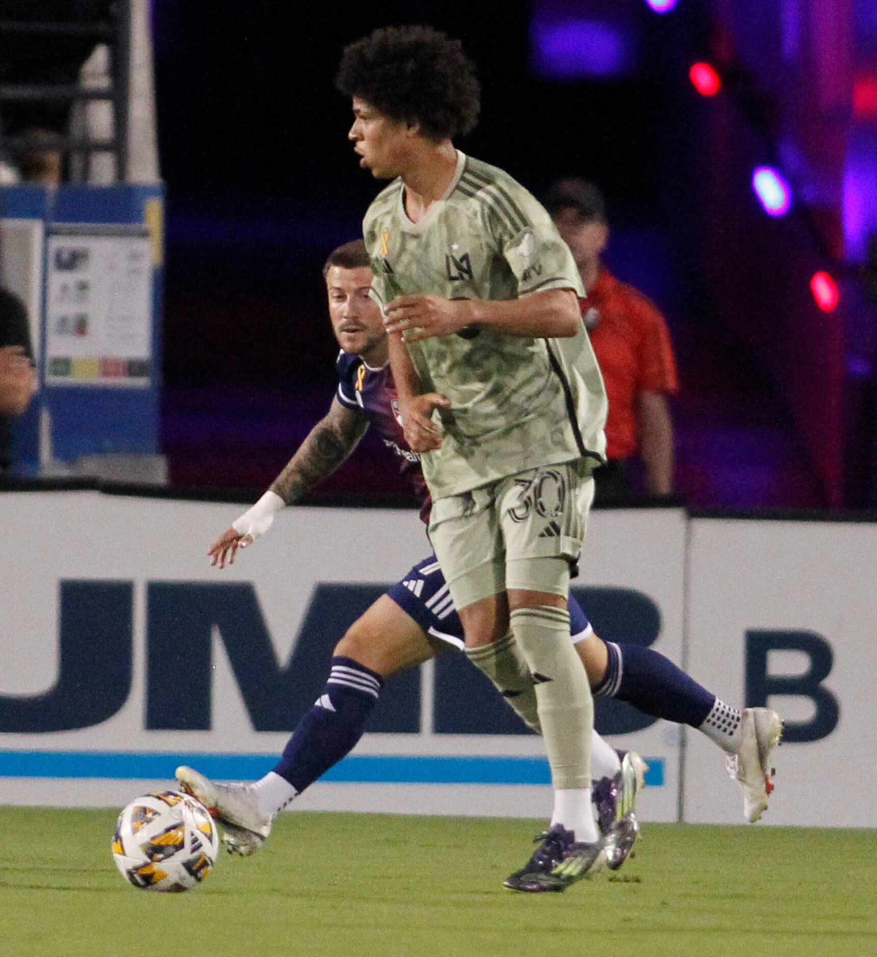
M 546 289 L 584 296 L 551 217 L 509 175 L 458 151 L 445 195 L 413 223 L 401 179 L 363 232 L 382 305 L 398 296 L 514 300 Z M 481 329 L 408 346 L 424 390 L 451 402 L 442 446 L 422 456 L 434 499 L 525 469 L 603 456 L 606 393 L 584 325 L 570 339 Z

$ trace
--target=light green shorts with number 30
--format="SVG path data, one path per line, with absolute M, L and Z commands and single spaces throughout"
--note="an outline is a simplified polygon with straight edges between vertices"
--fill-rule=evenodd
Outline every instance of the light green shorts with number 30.
M 429 537 L 457 609 L 508 589 L 566 595 L 592 501 L 587 464 L 562 462 L 433 502 Z

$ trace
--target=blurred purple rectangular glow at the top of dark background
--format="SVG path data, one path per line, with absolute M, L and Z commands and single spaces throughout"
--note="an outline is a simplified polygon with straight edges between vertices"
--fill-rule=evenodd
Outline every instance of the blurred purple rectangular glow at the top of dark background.
M 543 77 L 619 77 L 634 66 L 631 35 L 599 20 L 533 20 L 530 36 L 533 67 Z

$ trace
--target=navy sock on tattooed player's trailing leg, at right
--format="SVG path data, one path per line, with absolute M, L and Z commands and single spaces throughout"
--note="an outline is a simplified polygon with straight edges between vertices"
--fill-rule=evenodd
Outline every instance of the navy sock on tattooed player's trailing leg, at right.
M 617 698 L 655 718 L 700 727 L 715 702 L 701 684 L 651 648 L 607 641 L 609 663 L 595 698 Z

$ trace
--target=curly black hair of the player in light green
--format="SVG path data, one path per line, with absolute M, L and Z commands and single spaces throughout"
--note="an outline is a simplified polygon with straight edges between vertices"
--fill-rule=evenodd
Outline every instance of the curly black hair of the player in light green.
M 475 66 L 460 40 L 432 27 L 382 27 L 345 47 L 339 92 L 439 142 L 471 132 L 481 109 Z

